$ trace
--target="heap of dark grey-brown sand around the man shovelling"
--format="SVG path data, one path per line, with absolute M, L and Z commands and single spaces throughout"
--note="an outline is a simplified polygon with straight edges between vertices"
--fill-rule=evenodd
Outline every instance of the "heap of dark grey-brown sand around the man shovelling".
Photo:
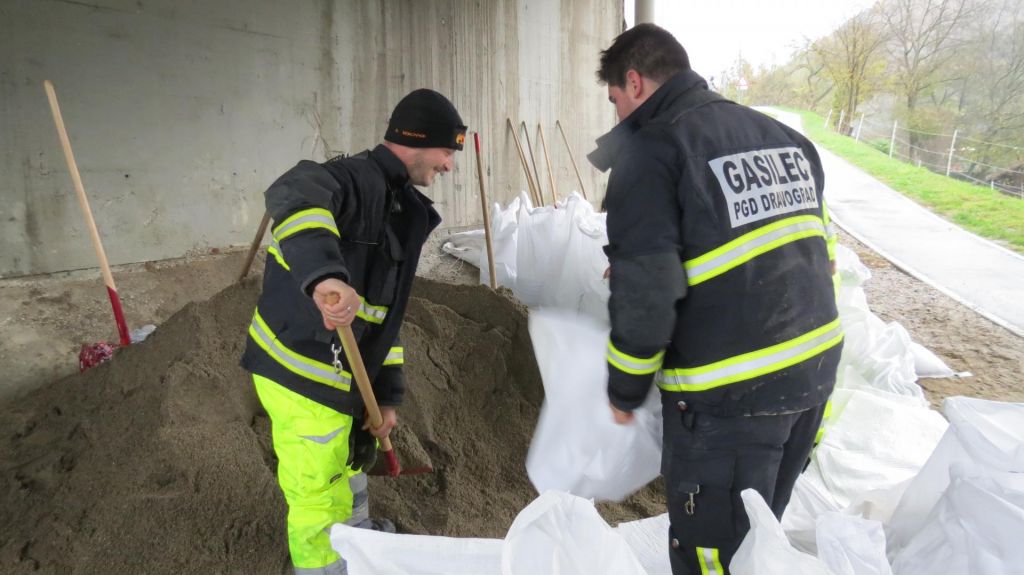
M 0 572 L 283 572 L 269 423 L 238 366 L 257 296 L 251 279 L 190 304 L 110 363 L 0 408 Z M 408 533 L 504 536 L 536 496 L 524 461 L 543 388 L 525 310 L 420 279 L 402 341 L 396 451 L 436 472 L 372 478 L 372 514 Z M 603 506 L 609 521 L 658 510 L 651 489 Z

